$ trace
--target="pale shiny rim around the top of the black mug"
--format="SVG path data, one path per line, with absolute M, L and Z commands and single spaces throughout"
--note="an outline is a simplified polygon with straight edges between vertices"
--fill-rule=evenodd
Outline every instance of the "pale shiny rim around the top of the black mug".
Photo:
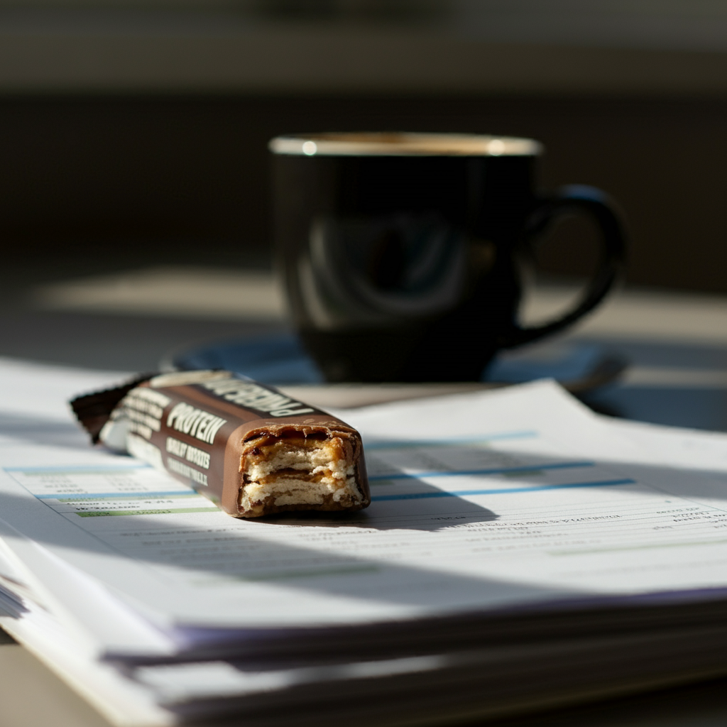
M 292 156 L 538 156 L 542 144 L 524 137 L 421 132 L 284 134 L 268 142 Z

